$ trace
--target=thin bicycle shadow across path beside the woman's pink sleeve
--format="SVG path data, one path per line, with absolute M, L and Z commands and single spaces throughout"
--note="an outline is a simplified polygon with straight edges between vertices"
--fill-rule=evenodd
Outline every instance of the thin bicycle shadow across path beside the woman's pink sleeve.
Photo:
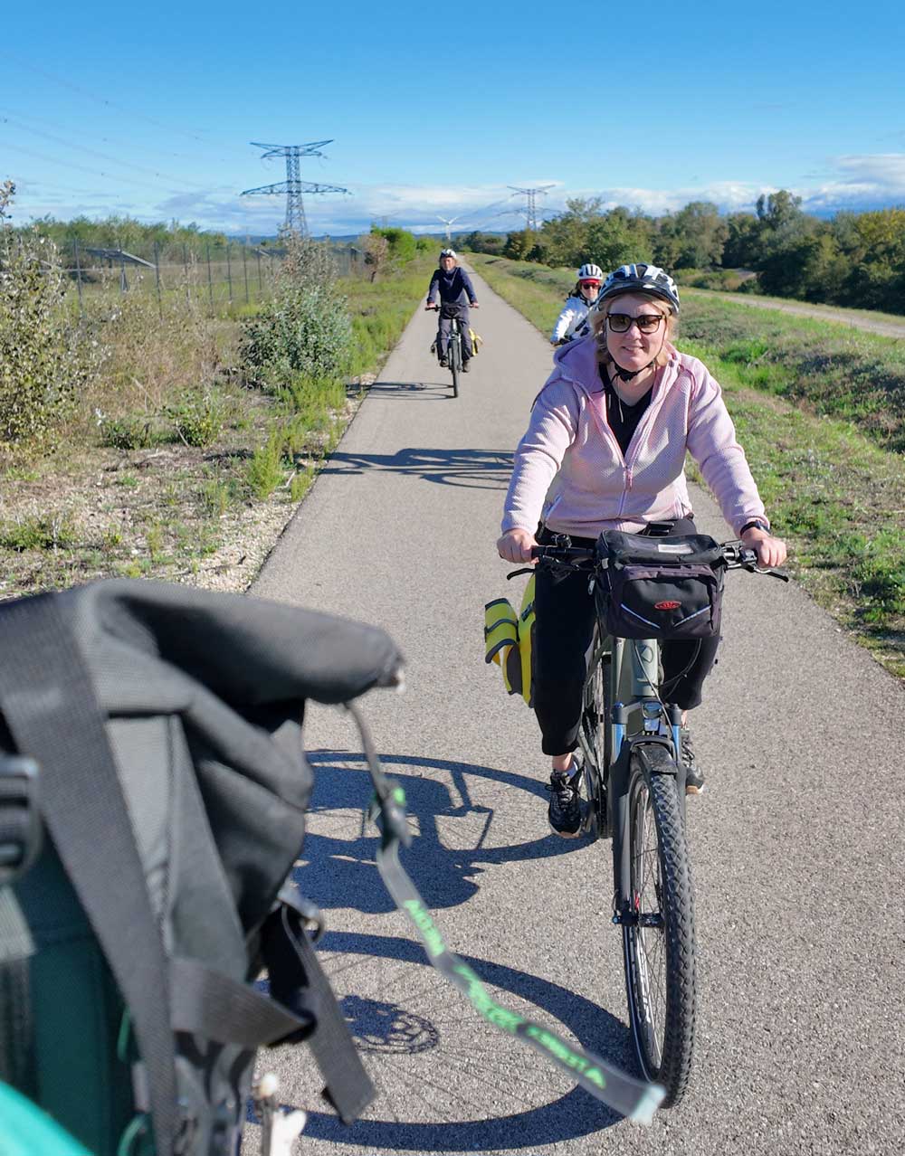
M 396 453 L 350 453 L 336 450 L 322 476 L 330 474 L 365 474 L 368 470 L 420 477 L 442 486 L 465 486 L 472 489 L 505 490 L 513 472 L 510 450 L 434 450 L 410 446 Z

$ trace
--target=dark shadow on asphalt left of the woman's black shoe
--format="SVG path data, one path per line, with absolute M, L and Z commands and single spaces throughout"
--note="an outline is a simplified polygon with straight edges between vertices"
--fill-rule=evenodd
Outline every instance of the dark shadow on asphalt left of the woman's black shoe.
M 311 812 L 319 817 L 316 831 L 306 836 L 294 880 L 319 907 L 353 907 L 368 914 L 395 910 L 376 866 L 380 836 L 365 814 L 374 791 L 363 755 L 332 751 L 309 754 L 315 771 Z M 493 808 L 472 802 L 465 778 L 498 779 L 539 794 L 542 786 L 524 776 L 410 756 L 388 756 L 391 777 L 405 790 L 406 812 L 414 838 L 400 849 L 399 858 L 429 907 L 453 907 L 468 902 L 478 890 L 486 864 L 509 862 L 562 854 L 571 850 L 561 839 L 545 837 L 503 846 L 485 847 Z M 418 773 L 399 773 L 410 764 L 449 773 L 461 798 L 456 802 L 446 783 Z M 474 836 L 472 847 L 447 847 L 437 818 L 455 818 Z

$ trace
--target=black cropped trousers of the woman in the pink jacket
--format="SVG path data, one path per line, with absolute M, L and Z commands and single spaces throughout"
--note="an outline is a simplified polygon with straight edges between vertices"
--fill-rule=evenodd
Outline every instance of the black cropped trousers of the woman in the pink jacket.
M 643 533 L 643 531 L 642 531 Z M 669 538 L 694 534 L 691 518 L 676 521 Z M 552 534 L 543 529 L 539 542 Z M 573 538 L 573 546 L 593 547 L 593 538 Z M 594 592 L 586 573 L 553 575 L 538 566 L 535 580 L 534 688 L 535 713 L 545 755 L 565 755 L 577 747 L 586 655 L 594 632 Z M 700 705 L 701 686 L 716 660 L 719 638 L 661 644 L 663 702 L 682 710 Z

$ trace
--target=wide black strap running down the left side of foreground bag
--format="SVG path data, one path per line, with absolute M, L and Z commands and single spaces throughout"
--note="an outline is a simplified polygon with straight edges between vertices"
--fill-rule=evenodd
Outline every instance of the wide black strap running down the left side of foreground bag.
M 2 633 L 0 712 L 19 751 L 38 763 L 42 817 L 131 1011 L 156 1156 L 170 1156 L 177 1099 L 167 959 L 103 718 L 56 595 L 6 608 Z

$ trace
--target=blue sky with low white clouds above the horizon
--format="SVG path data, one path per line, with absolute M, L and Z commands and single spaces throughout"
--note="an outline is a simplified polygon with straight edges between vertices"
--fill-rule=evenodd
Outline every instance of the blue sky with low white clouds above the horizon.
M 17 5 L 0 40 L 15 221 L 120 213 L 272 232 L 250 141 L 332 138 L 314 234 L 513 229 L 524 198 L 648 213 L 905 205 L 905 9 L 878 2 Z

